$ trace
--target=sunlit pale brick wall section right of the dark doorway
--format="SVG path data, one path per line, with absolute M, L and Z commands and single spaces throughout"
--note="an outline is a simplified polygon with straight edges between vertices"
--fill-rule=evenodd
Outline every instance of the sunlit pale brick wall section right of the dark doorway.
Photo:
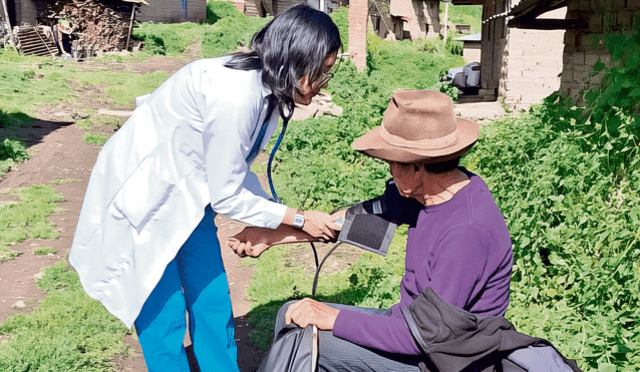
M 566 8 L 540 18 L 564 19 Z M 505 103 L 529 105 L 560 88 L 564 30 L 510 28 L 507 36 Z

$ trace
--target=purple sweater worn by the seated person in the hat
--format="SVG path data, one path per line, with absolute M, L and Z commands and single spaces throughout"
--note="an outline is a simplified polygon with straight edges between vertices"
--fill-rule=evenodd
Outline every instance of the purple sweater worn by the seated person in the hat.
M 513 260 L 509 231 L 484 181 L 460 169 L 471 182 L 446 203 L 429 207 L 403 198 L 387 182 L 385 194 L 377 198 L 382 216 L 409 225 L 400 302 L 390 316 L 341 310 L 335 336 L 391 353 L 420 354 L 400 308 L 427 287 L 480 316 L 507 310 Z

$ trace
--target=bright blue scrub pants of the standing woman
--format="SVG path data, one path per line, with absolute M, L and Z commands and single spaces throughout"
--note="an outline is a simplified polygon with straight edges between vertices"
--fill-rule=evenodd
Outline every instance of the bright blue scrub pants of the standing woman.
M 207 206 L 135 321 L 149 372 L 189 371 L 185 310 L 200 370 L 238 371 L 229 284 L 214 217 Z

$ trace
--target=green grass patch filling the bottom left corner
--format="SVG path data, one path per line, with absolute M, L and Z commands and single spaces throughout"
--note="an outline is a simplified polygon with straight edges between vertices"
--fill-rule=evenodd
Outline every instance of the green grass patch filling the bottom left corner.
M 0 325 L 0 371 L 113 371 L 111 359 L 127 352 L 130 331 L 85 294 L 66 262 L 43 273 L 40 306 Z

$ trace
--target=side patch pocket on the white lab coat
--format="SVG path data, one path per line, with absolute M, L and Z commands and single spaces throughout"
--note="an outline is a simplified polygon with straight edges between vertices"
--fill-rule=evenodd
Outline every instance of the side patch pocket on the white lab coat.
M 147 157 L 125 181 L 113 206 L 140 231 L 167 204 L 175 185 L 158 175 L 157 159 Z

